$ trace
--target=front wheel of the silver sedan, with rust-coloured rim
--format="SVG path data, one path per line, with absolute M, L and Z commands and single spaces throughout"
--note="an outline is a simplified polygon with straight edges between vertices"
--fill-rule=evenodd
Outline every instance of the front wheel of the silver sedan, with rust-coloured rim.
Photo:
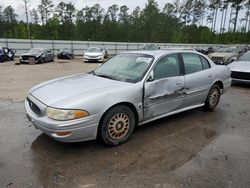
M 102 118 L 98 137 L 108 146 L 125 143 L 135 128 L 135 115 L 127 106 L 111 108 Z

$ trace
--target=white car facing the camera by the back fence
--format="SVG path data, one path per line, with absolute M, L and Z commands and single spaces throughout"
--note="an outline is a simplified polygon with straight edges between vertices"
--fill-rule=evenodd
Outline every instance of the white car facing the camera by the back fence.
M 98 61 L 103 62 L 105 51 L 99 47 L 89 47 L 84 53 L 84 62 Z

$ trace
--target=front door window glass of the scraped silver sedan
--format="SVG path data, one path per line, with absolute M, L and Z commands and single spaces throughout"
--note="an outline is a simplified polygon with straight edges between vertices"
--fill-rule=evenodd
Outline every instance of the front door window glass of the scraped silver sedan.
M 158 61 L 154 67 L 154 79 L 179 76 L 180 64 L 177 54 L 168 55 Z

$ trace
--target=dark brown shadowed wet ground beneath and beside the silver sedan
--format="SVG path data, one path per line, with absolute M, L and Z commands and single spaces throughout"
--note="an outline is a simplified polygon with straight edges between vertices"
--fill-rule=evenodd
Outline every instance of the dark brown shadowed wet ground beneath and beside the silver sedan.
M 41 134 L 31 145 L 33 163 L 45 187 L 89 182 L 102 185 L 109 184 L 111 177 L 119 183 L 137 181 L 141 172 L 145 177 L 169 173 L 215 138 L 216 132 L 202 127 L 203 120 L 198 118 L 209 114 L 195 109 L 147 123 L 118 147 L 97 141 L 61 143 Z

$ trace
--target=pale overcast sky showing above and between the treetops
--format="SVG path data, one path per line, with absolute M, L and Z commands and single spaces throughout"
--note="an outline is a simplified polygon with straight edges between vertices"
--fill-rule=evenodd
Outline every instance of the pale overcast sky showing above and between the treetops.
M 38 4 L 40 4 L 41 0 L 29 0 L 30 1 L 30 9 L 35 8 L 37 9 Z M 70 1 L 75 4 L 77 9 L 82 9 L 85 6 L 93 6 L 94 4 L 100 4 L 101 7 L 107 11 L 108 7 L 110 7 L 113 4 L 117 4 L 118 6 L 127 5 L 132 11 L 136 6 L 140 6 L 141 8 L 144 8 L 148 0 L 52 0 L 53 4 L 57 6 L 61 1 L 65 3 L 69 3 Z M 156 0 L 159 8 L 162 10 L 164 5 L 168 2 L 173 2 L 173 0 Z M 24 9 L 23 9 L 23 0 L 0 0 L 0 5 L 4 8 L 9 5 L 11 5 L 14 9 L 16 14 L 18 15 L 19 19 L 24 19 Z M 229 12 L 229 11 L 228 11 Z M 239 17 L 243 17 L 244 13 L 241 13 Z M 218 21 L 217 21 L 217 29 L 220 25 L 220 12 L 218 13 Z M 239 18 L 239 19 L 240 19 Z M 238 24 L 240 22 L 238 21 Z M 227 26 L 226 26 L 227 28 Z

